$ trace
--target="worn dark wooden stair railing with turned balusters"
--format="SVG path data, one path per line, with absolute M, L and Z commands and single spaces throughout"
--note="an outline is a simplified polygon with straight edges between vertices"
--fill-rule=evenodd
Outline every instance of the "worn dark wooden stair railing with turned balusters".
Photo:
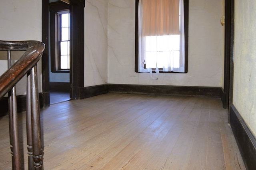
M 1 41 L 0 51 L 7 51 L 8 70 L 0 76 L 0 99 L 8 93 L 8 113 L 12 169 L 22 169 L 18 137 L 18 117 L 15 85 L 27 75 L 26 129 L 28 169 L 43 169 L 43 152 L 40 134 L 40 113 L 36 64 L 42 57 L 45 45 L 38 41 Z M 25 51 L 12 65 L 11 51 Z

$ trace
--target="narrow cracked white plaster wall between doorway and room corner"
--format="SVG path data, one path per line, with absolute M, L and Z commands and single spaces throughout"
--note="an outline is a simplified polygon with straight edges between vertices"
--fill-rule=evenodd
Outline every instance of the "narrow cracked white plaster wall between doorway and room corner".
M 86 0 L 84 9 L 84 86 L 108 81 L 108 1 Z

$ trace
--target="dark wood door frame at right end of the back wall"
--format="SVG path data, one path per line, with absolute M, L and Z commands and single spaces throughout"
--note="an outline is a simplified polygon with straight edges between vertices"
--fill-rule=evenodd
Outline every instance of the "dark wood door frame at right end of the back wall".
M 229 110 L 228 120 L 230 120 L 234 77 L 234 0 L 225 0 L 224 46 L 224 88 L 221 98 L 223 107 Z

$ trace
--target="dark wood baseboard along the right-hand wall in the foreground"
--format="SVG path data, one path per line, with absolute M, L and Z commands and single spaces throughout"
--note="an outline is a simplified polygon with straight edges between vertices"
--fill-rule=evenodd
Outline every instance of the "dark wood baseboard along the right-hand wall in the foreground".
M 234 105 L 231 105 L 230 108 L 230 126 L 236 138 L 246 169 L 255 169 L 256 140 Z

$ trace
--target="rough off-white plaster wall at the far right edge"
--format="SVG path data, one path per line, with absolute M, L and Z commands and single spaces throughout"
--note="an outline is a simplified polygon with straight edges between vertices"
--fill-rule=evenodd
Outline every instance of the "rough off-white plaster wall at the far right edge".
M 256 1 L 235 0 L 233 103 L 256 135 Z

